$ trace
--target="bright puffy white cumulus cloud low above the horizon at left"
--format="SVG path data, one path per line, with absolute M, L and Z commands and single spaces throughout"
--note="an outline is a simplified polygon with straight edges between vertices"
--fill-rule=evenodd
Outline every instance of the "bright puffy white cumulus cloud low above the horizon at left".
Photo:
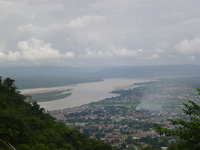
M 0 52 L 1 61 L 40 61 L 48 59 L 68 59 L 74 58 L 73 52 L 66 52 L 61 54 L 59 50 L 53 49 L 51 43 L 44 43 L 44 41 L 31 38 L 27 41 L 18 42 L 20 51 L 8 51 L 8 53 Z

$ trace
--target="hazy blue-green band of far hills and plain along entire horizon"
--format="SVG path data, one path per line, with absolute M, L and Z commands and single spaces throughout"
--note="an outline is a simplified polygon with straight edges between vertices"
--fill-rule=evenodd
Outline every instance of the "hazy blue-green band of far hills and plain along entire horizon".
M 105 78 L 151 78 L 199 75 L 200 66 L 195 65 L 0 68 L 0 76 L 14 78 L 20 89 L 95 82 Z

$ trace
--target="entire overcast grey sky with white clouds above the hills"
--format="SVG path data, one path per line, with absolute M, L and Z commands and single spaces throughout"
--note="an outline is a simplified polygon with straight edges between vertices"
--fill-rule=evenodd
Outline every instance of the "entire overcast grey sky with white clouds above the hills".
M 200 0 L 0 0 L 0 67 L 200 64 Z

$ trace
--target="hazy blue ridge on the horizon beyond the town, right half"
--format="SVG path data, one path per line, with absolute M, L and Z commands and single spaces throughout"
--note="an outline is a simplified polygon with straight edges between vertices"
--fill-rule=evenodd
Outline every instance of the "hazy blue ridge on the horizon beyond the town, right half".
M 160 77 L 160 76 L 199 76 L 200 66 L 166 65 L 166 66 L 128 66 L 103 69 L 98 72 L 102 78 L 123 77 Z

